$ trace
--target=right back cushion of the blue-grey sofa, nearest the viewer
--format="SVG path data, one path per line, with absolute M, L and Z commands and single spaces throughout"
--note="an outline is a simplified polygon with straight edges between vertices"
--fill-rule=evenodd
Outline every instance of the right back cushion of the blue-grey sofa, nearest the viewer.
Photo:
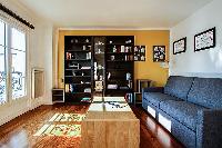
M 188 101 L 211 109 L 222 109 L 222 79 L 194 78 Z

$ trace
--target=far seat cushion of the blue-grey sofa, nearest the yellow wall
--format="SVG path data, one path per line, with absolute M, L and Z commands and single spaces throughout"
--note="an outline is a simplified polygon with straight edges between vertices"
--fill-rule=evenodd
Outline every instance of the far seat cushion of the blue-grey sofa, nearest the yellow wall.
M 144 99 L 159 108 L 159 103 L 164 100 L 180 100 L 179 98 L 161 93 L 161 92 L 144 92 Z

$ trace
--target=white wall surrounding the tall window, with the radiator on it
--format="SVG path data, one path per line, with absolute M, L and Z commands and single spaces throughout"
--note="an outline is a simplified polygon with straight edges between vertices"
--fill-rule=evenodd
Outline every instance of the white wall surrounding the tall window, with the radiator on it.
M 46 92 L 42 98 L 31 99 L 31 88 L 28 88 L 28 97 L 18 101 L 11 101 L 0 106 L 0 125 L 34 109 L 40 105 L 52 103 L 52 23 L 36 16 L 31 10 L 23 8 L 14 0 L 0 0 L 2 4 L 17 12 L 22 18 L 34 24 L 36 29 L 29 34 L 29 61 L 28 83 L 31 86 L 31 69 L 43 68 L 46 71 Z

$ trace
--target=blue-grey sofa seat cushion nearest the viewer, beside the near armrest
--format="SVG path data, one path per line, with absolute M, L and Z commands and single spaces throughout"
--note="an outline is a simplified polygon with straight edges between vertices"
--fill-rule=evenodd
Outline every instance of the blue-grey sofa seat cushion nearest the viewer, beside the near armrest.
M 160 102 L 160 109 L 195 131 L 198 110 L 205 108 L 186 101 L 165 100 Z

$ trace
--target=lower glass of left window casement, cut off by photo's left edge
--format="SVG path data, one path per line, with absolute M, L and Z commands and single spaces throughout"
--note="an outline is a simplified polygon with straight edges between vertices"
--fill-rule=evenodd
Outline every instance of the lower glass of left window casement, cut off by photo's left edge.
M 6 50 L 0 46 L 0 103 L 7 101 Z

